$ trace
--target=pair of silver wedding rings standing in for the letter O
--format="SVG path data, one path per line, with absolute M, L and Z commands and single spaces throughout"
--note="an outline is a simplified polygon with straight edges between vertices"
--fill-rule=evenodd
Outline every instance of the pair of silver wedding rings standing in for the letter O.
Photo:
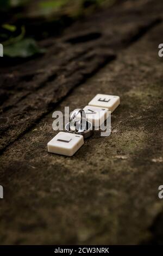
M 92 135 L 92 123 L 86 120 L 84 109 L 74 109 L 70 115 L 70 122 L 65 126 L 65 130 L 67 132 L 83 135 L 84 138 L 88 138 Z

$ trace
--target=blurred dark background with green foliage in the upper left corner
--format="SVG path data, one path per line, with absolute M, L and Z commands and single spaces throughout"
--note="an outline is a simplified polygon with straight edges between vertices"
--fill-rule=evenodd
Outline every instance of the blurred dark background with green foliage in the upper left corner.
M 43 54 L 38 42 L 59 35 L 72 22 L 119 0 L 0 0 L 0 42 L 4 57 Z M 122 2 L 122 1 L 121 1 Z

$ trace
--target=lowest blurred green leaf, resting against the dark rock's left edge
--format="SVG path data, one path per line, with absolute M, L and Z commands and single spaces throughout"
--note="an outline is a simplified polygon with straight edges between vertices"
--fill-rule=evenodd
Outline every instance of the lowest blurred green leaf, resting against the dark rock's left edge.
M 27 58 L 38 53 L 44 53 L 45 49 L 39 48 L 32 38 L 23 39 L 4 47 L 4 56 Z

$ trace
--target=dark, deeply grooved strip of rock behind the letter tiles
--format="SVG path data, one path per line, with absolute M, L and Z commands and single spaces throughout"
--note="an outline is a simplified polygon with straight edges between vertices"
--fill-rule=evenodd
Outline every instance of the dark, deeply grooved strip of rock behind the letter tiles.
M 71 89 L 160 22 L 157 2 L 156 9 L 153 1 L 139 1 L 103 10 L 67 29 L 61 38 L 40 42 L 48 45 L 45 56 L 2 68 L 0 151 L 51 111 Z

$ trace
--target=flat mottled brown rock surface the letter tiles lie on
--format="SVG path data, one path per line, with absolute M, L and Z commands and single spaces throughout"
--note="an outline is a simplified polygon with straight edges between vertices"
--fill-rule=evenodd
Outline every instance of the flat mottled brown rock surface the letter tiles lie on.
M 130 18 L 133 17 L 129 24 L 127 13 L 124 17 L 118 16 L 117 9 L 112 13 L 112 17 L 117 17 L 115 27 L 112 25 L 117 28 L 117 33 L 117 24 L 122 23 L 126 35 L 127 24 L 131 33 L 133 26 L 138 29 L 138 23 L 146 19 L 146 15 L 140 19 L 136 15 L 142 8 L 136 5 L 137 2 L 133 8 L 135 16 L 129 4 L 123 5 Z M 161 1 L 157 1 L 157 7 L 153 5 L 156 1 L 145 2 L 147 8 L 151 8 L 150 19 L 158 20 Z M 158 8 L 157 12 L 155 8 Z M 145 23 L 142 24 L 144 26 Z M 7 145 L 8 148 L 0 157 L 0 183 L 4 186 L 4 199 L 0 202 L 2 244 L 160 243 L 158 218 L 163 201 L 158 198 L 158 187 L 163 182 L 163 63 L 158 57 L 158 45 L 163 41 L 163 23 L 154 24 L 134 44 L 127 44 L 126 49 L 115 44 L 112 48 L 117 58 L 77 88 L 72 90 L 74 83 L 70 86 L 67 80 L 68 89 L 58 83 L 59 92 L 65 92 L 65 89 L 65 95 L 52 94 L 55 90 L 53 81 L 40 88 L 44 93 L 47 90 L 46 99 L 51 107 L 43 105 L 45 108 L 39 111 L 36 107 L 35 113 L 39 118 L 33 118 L 34 112 L 27 111 L 27 119 L 23 119 L 22 124 L 27 122 L 28 131 L 26 126 L 23 130 L 19 122 L 17 126 L 15 123 L 11 125 L 14 139 L 22 131 L 24 134 L 11 145 L 7 142 L 5 147 Z M 74 25 L 72 31 L 78 26 Z M 83 23 L 82 26 L 86 25 Z M 117 45 L 121 45 L 121 40 Z M 68 73 L 67 78 L 75 79 L 75 75 L 75 72 L 71 76 Z M 41 79 L 38 76 L 38 81 Z M 56 79 L 59 81 L 58 75 Z M 95 132 L 73 157 L 48 154 L 47 142 L 56 134 L 52 130 L 52 112 L 64 111 L 65 106 L 70 106 L 71 110 L 84 107 L 97 93 L 121 96 L 121 106 L 111 116 L 111 135 L 100 137 Z M 30 101 L 32 109 L 39 106 L 35 105 L 35 95 L 35 89 L 28 95 L 33 99 Z M 27 103 L 28 97 L 18 100 L 15 108 L 20 102 Z M 7 111 L 13 108 L 8 106 Z M 50 110 L 52 112 L 48 113 Z M 39 115 L 40 111 L 44 112 Z M 5 130 L 4 141 L 5 136 L 12 135 L 11 127 Z M 9 139 L 13 142 L 12 136 Z

